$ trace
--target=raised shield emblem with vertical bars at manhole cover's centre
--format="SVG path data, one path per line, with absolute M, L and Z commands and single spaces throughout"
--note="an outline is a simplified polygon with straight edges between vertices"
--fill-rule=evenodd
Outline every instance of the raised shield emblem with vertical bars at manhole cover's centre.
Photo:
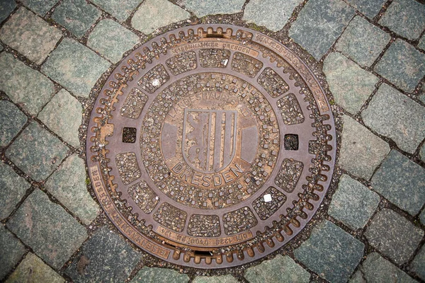
M 237 111 L 185 109 L 181 149 L 191 168 L 214 173 L 230 164 L 236 152 Z

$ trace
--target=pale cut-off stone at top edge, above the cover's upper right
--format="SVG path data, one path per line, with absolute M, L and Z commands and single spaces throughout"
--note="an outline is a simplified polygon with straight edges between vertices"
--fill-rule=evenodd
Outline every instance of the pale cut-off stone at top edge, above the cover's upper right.
M 242 20 L 278 31 L 288 23 L 293 10 L 301 2 L 301 0 L 252 0 L 246 4 Z

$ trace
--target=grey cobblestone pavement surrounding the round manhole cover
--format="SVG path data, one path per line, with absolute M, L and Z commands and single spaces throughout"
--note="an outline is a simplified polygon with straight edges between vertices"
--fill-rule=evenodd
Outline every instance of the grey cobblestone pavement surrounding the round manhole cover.
M 86 175 L 94 93 L 152 36 L 232 23 L 319 62 L 339 125 L 334 182 L 302 236 L 193 270 L 120 236 Z M 0 0 L 0 281 L 424 282 L 425 1 Z

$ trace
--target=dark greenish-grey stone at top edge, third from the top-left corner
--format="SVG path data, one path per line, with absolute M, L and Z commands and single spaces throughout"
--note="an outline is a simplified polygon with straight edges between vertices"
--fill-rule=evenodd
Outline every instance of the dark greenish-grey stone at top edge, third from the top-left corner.
M 87 4 L 85 0 L 64 0 L 55 8 L 52 19 L 77 37 L 81 37 L 96 23 L 101 14 L 101 11 Z

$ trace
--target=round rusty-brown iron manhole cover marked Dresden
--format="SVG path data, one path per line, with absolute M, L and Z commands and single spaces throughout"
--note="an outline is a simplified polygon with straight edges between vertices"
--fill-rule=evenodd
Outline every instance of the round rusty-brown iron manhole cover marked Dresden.
M 182 28 L 132 52 L 102 88 L 87 137 L 115 226 L 198 268 L 242 265 L 290 241 L 322 202 L 336 151 L 307 65 L 229 25 Z

